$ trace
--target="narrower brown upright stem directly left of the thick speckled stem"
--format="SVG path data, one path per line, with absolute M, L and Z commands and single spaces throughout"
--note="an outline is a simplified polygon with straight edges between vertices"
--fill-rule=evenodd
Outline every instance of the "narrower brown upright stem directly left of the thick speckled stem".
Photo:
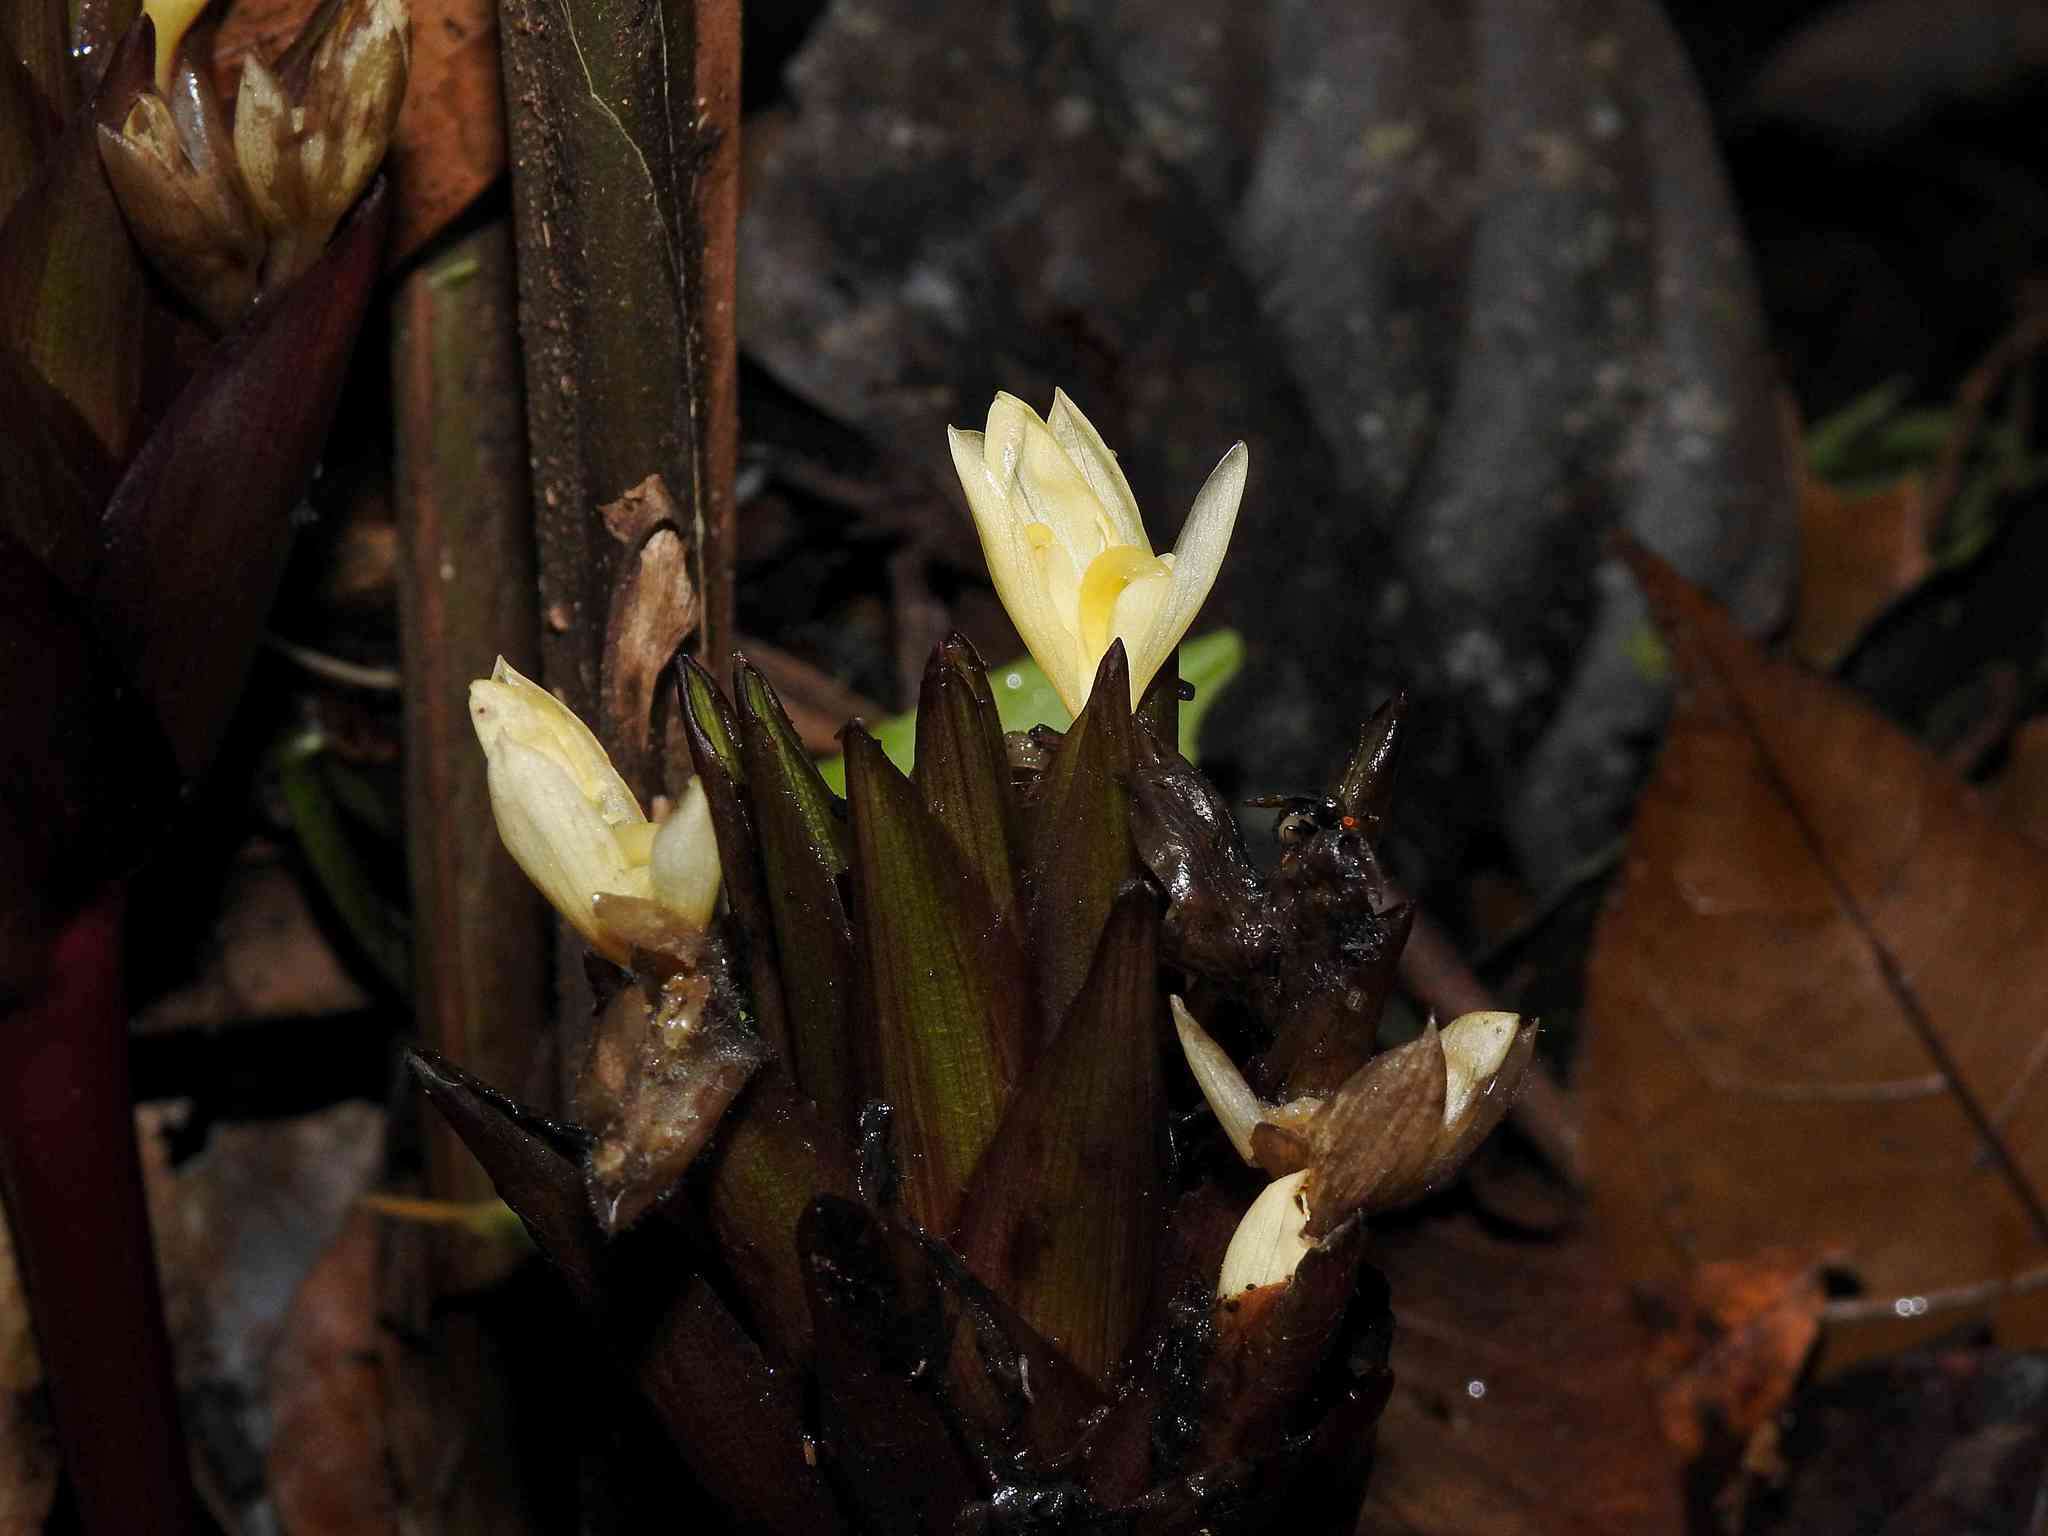
M 539 666 L 510 229 L 465 236 L 406 279 L 393 309 L 418 1028 L 434 1051 L 547 1102 L 543 907 L 498 846 L 469 723 L 469 682 L 500 655 Z M 475 1159 L 430 1126 L 428 1192 L 487 1196 Z

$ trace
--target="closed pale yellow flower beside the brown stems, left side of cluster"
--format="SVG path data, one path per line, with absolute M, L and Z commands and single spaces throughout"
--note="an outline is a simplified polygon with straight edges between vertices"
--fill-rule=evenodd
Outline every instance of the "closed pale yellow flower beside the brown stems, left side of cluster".
M 469 684 L 498 836 L 555 911 L 610 961 L 631 944 L 598 915 L 598 897 L 655 901 L 692 928 L 711 922 L 719 850 L 702 784 L 659 827 L 575 711 L 504 657 Z

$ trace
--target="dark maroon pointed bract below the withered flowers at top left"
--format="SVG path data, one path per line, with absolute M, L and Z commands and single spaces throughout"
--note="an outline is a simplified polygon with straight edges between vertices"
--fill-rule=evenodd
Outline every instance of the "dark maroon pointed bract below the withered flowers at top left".
M 100 522 L 92 608 L 186 772 L 242 694 L 389 223 L 379 178 L 322 258 L 207 354 Z

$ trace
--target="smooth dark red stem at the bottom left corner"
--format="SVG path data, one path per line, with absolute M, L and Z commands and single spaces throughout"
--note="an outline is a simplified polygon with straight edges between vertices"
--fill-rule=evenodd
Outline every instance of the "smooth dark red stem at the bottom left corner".
M 129 1104 L 119 887 L 0 1020 L 0 1188 L 84 1530 L 201 1530 Z

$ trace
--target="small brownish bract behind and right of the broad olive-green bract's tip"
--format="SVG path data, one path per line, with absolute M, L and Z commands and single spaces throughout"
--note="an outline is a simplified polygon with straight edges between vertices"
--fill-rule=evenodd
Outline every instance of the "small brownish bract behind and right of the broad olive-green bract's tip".
M 989 893 L 989 911 L 1016 922 L 1016 809 L 1010 760 L 981 657 L 952 635 L 932 651 L 918 694 L 918 766 L 911 782 L 967 866 Z

